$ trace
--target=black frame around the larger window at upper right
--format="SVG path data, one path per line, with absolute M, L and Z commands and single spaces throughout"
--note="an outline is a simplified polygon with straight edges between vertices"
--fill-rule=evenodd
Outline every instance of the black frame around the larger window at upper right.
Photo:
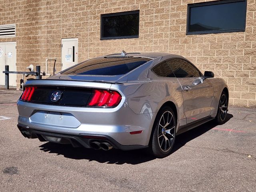
M 211 30 L 211 31 L 189 32 L 190 8 L 202 7 L 202 6 L 208 6 L 208 5 L 226 4 L 226 3 L 233 3 L 233 2 L 246 2 L 246 8 L 245 8 L 246 14 L 245 14 L 245 18 L 244 18 L 244 28 L 230 29 L 230 30 L 226 30 L 225 29 L 225 30 Z M 187 7 L 186 35 L 216 34 L 216 33 L 229 33 L 229 32 L 245 32 L 245 28 L 246 28 L 246 15 L 247 15 L 247 0 L 218 0 L 218 1 L 210 1 L 210 2 L 201 2 L 201 3 L 188 4 L 188 7 Z

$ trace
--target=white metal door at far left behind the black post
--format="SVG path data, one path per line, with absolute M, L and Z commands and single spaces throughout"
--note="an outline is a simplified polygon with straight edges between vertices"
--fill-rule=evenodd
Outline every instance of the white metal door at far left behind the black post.
M 5 65 L 9 65 L 9 71 L 16 71 L 16 42 L 0 43 L 0 85 L 5 84 Z M 9 74 L 9 86 L 16 87 L 17 74 Z

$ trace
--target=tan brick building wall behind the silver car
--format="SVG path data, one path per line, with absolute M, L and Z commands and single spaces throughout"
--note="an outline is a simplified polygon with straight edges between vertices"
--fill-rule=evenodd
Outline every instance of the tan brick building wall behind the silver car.
M 0 24 L 15 23 L 16 38 L 0 42 L 17 42 L 19 71 L 44 71 L 46 58 L 61 70 L 62 38 L 78 38 L 79 62 L 121 50 L 180 54 L 224 78 L 231 105 L 256 106 L 255 0 L 247 0 L 245 32 L 186 36 L 187 4 L 196 2 L 204 0 L 1 0 Z M 130 10 L 140 10 L 139 38 L 100 40 L 100 14 Z

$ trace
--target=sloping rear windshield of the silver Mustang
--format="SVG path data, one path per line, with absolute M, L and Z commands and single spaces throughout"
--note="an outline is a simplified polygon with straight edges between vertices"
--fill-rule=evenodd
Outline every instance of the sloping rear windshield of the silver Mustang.
M 77 64 L 61 74 L 79 74 L 79 75 L 122 75 L 134 70 L 142 64 L 150 61 L 150 58 L 142 57 L 105 57 L 95 58 L 80 64 Z

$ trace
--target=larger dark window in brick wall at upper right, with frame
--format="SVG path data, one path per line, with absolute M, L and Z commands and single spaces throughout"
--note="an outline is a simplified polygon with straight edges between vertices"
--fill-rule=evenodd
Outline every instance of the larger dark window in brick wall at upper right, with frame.
M 245 0 L 189 4 L 187 34 L 244 31 L 245 21 Z

